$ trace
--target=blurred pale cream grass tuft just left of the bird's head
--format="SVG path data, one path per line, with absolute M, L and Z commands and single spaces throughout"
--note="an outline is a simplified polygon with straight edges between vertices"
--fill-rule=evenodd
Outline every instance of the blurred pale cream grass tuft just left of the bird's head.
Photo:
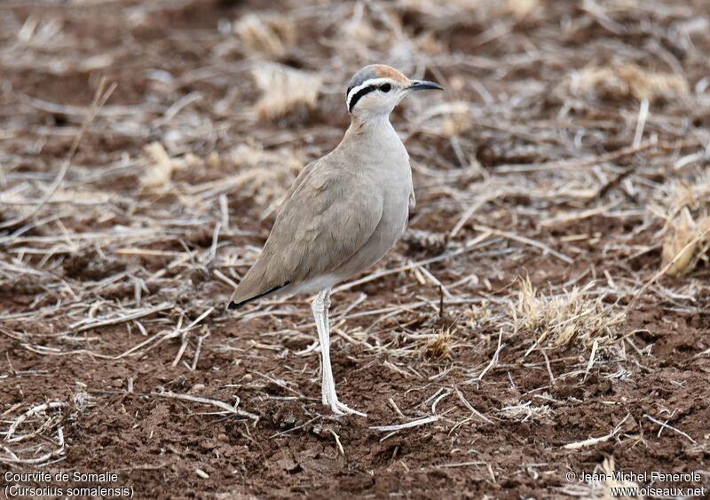
M 315 107 L 322 84 L 319 75 L 280 64 L 259 65 L 252 73 L 262 91 L 256 103 L 261 119 L 303 114 Z

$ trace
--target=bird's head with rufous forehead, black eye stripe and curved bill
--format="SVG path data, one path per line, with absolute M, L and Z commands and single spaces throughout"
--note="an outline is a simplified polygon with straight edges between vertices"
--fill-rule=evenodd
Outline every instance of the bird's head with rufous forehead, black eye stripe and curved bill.
M 410 80 L 394 67 L 371 64 L 352 76 L 345 103 L 352 116 L 389 115 L 411 91 L 444 89 L 438 83 Z

